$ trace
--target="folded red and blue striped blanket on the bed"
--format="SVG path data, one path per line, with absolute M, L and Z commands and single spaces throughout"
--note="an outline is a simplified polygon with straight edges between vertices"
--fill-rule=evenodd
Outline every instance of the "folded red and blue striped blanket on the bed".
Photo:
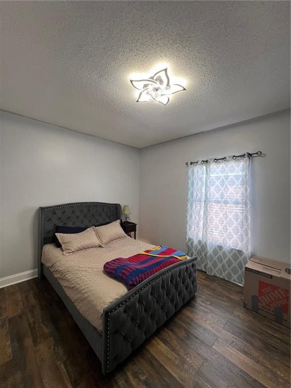
M 133 288 L 161 269 L 185 259 L 188 256 L 183 252 L 159 245 L 128 258 L 110 260 L 103 269 L 108 275 Z

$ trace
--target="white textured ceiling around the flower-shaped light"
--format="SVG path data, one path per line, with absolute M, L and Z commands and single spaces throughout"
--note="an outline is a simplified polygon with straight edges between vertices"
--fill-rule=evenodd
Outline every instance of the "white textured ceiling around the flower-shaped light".
M 143 148 L 288 108 L 289 7 L 2 2 L 0 109 Z M 187 91 L 135 103 L 159 63 Z

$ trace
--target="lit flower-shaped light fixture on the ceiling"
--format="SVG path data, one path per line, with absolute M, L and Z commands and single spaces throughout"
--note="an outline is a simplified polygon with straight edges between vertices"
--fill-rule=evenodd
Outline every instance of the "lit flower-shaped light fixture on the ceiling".
M 131 85 L 135 89 L 141 90 L 136 100 L 137 103 L 146 103 L 154 101 L 163 105 L 167 105 L 170 101 L 170 96 L 178 91 L 186 90 L 183 86 L 177 83 L 170 83 L 168 69 L 158 71 L 153 77 L 147 79 L 130 80 Z

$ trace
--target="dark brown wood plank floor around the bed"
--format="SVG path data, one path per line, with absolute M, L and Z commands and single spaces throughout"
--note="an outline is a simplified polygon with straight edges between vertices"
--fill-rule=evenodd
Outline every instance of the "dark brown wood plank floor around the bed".
M 37 279 L 0 289 L 0 387 L 288 388 L 289 329 L 242 307 L 243 288 L 202 272 L 198 293 L 113 373 Z

